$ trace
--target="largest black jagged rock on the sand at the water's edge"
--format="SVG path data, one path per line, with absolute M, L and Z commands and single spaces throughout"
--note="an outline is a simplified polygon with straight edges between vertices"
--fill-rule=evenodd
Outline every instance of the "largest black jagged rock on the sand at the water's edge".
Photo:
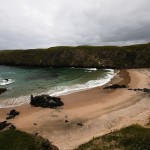
M 35 97 L 31 95 L 30 104 L 36 107 L 43 107 L 43 108 L 56 108 L 64 105 L 64 103 L 61 101 L 59 97 L 52 97 L 44 94 Z

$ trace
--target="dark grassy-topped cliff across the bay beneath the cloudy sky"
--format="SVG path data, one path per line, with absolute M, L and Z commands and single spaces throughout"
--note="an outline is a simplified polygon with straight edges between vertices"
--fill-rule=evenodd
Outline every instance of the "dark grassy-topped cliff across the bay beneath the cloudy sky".
M 0 51 L 0 65 L 150 68 L 150 43 L 132 46 L 78 46 Z

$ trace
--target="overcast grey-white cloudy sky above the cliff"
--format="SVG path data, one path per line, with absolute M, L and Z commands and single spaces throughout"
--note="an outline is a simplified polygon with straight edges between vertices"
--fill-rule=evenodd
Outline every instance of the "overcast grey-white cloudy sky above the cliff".
M 150 42 L 150 0 L 0 0 L 0 49 Z

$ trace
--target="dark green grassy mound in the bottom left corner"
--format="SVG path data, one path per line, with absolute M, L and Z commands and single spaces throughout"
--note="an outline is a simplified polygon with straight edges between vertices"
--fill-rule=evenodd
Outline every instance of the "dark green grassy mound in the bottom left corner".
M 50 145 L 44 149 L 42 137 L 27 134 L 19 130 L 5 130 L 0 132 L 0 150 L 57 150 Z

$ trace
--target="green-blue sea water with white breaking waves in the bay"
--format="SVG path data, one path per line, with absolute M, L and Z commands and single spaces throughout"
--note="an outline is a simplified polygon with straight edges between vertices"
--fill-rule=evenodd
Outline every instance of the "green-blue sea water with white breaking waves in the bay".
M 37 68 L 0 66 L 0 107 L 26 103 L 30 95 L 59 96 L 106 84 L 115 75 L 112 69 Z

